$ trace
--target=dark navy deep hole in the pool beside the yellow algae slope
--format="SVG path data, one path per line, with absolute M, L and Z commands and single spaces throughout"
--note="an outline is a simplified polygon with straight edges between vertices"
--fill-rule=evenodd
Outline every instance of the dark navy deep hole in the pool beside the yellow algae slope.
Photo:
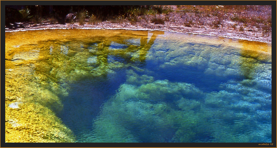
M 124 73 L 125 71 L 119 70 L 112 79 L 107 75 L 102 78 L 74 81 L 69 84 L 68 95 L 60 96 L 63 110 L 57 112 L 57 116 L 77 138 L 92 130 L 92 121 L 98 115 L 100 106 L 125 82 Z

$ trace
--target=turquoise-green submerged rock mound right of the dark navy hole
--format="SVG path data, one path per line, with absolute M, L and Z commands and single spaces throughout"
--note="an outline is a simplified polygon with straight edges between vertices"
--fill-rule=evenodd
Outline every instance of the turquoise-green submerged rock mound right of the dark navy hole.
M 199 102 L 189 101 L 194 105 L 187 110 L 184 109 L 185 112 L 175 108 L 177 104 L 173 102 L 186 94 L 191 93 L 187 96 L 201 94 L 202 92 L 193 88 L 193 85 L 172 83 L 168 80 L 153 81 L 152 77 L 147 75 L 139 76 L 133 71 L 129 73 L 131 74 L 127 79 L 129 84 L 120 86 L 118 93 L 104 104 L 101 114 L 94 121 L 95 136 L 101 136 L 102 141 L 111 139 L 113 142 L 122 142 L 132 139 L 138 142 L 172 142 L 178 128 L 184 131 L 193 128 L 192 126 L 198 122 L 191 110 L 200 107 Z M 143 84 L 138 85 L 141 84 L 138 82 Z M 185 102 L 182 99 L 177 102 L 181 108 L 184 108 L 182 105 Z M 103 131 L 105 128 L 109 128 L 110 132 Z M 118 129 L 121 129 L 120 135 L 113 133 Z M 187 134 L 190 137 L 193 135 L 193 133 Z M 111 135 L 114 136 L 111 137 Z M 121 135 L 128 136 L 122 137 Z M 125 139 L 126 137 L 132 138 Z M 180 139 L 175 137 L 175 142 L 177 141 Z

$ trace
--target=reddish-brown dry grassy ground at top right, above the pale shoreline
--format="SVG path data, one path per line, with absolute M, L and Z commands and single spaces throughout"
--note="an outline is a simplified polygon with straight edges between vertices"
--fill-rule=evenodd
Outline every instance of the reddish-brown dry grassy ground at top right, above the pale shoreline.
M 182 15 L 181 18 L 184 18 L 186 27 L 208 25 L 212 28 L 220 28 L 225 25 L 222 21 L 225 20 L 232 22 L 226 24 L 226 27 L 234 30 L 237 24 L 241 24 L 240 31 L 246 27 L 256 27 L 264 33 L 271 32 L 271 11 L 263 12 L 264 15 L 261 15 L 259 12 L 263 11 L 262 8 L 255 5 L 177 5 L 176 9 L 176 12 Z

